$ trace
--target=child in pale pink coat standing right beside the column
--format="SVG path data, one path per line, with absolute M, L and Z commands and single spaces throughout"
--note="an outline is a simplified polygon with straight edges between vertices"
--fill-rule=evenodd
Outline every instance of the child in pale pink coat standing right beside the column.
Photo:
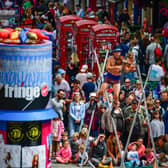
M 59 142 L 61 140 L 61 135 L 64 132 L 64 123 L 59 117 L 54 118 L 51 121 L 51 130 L 52 130 L 52 155 L 56 156 L 56 152 L 59 148 Z

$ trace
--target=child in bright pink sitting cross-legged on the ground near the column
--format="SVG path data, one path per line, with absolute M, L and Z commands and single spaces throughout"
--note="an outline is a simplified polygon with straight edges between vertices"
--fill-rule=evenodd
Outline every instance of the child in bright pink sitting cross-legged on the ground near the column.
M 59 163 L 68 163 L 71 160 L 72 152 L 71 147 L 69 145 L 69 141 L 65 140 L 63 142 L 63 147 L 56 155 L 56 161 Z

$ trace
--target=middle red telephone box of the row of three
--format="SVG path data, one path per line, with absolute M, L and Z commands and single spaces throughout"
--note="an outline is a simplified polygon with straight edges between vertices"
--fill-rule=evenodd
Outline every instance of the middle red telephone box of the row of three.
M 80 66 L 87 64 L 91 66 L 91 57 L 89 50 L 89 33 L 92 26 L 98 23 L 93 20 L 80 20 L 74 24 L 74 39 L 77 46 L 77 54 L 80 60 Z

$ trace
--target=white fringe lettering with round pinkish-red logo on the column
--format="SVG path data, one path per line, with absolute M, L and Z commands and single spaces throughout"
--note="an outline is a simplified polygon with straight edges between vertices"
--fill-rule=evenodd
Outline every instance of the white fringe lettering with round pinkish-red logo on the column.
M 43 89 L 45 88 L 45 90 Z M 41 92 L 45 92 L 42 96 L 48 95 L 48 87 L 45 85 L 40 89 L 40 87 L 23 87 L 17 86 L 14 87 L 9 86 L 8 84 L 5 85 L 5 98 L 24 98 L 26 100 L 33 100 L 34 98 L 40 97 L 40 90 Z

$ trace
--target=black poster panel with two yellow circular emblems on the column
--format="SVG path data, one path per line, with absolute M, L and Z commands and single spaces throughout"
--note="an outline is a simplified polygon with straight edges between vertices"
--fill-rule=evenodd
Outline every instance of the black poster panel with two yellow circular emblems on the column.
M 7 143 L 21 146 L 41 145 L 41 123 L 8 122 Z

